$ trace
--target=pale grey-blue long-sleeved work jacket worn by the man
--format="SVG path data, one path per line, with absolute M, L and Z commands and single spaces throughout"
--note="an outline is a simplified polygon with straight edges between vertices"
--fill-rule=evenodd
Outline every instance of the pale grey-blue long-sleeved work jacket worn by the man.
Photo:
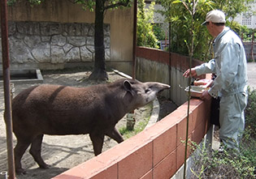
M 210 96 L 227 96 L 247 91 L 247 61 L 239 36 L 225 27 L 214 40 L 215 58 L 196 66 L 197 75 L 215 73 Z

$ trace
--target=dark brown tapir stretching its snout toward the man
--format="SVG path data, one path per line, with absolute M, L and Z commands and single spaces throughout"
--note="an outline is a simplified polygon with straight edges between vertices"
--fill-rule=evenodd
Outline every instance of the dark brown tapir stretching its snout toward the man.
M 102 152 L 105 135 L 123 142 L 115 124 L 168 88 L 164 83 L 119 79 L 90 87 L 41 84 L 25 89 L 12 100 L 16 173 L 26 173 L 21 158 L 30 144 L 29 153 L 39 167 L 49 168 L 41 158 L 44 134 L 89 134 L 95 156 Z

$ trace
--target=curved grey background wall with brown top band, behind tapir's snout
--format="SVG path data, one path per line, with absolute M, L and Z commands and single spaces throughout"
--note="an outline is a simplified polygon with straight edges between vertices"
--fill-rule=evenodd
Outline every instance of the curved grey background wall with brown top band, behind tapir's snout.
M 183 73 L 189 68 L 189 57 L 177 53 L 170 55 L 171 58 L 169 53 L 162 50 L 137 47 L 137 79 L 170 84 L 171 91 L 163 92 L 163 96 L 180 106 L 188 100 L 184 87 L 188 86 L 189 80 L 183 77 Z M 201 63 L 193 60 L 192 66 Z

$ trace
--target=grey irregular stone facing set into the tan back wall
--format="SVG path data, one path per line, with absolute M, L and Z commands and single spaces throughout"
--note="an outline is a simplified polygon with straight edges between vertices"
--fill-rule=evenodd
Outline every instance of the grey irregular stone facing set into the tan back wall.
M 92 23 L 11 22 L 8 24 L 8 31 L 11 64 L 57 64 L 94 60 Z M 106 61 L 110 61 L 109 24 L 104 24 L 104 38 Z M 1 44 L 0 47 L 2 53 Z M 2 55 L 0 59 L 2 63 Z

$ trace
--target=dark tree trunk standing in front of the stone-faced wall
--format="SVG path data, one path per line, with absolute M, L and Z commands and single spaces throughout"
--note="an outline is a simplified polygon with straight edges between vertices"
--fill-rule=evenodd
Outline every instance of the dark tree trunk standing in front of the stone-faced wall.
M 106 63 L 105 63 L 103 19 L 104 19 L 104 1 L 96 0 L 95 33 L 94 33 L 95 59 L 94 59 L 93 73 L 89 76 L 89 79 L 93 79 L 93 80 L 108 79 L 108 76 L 106 73 Z

